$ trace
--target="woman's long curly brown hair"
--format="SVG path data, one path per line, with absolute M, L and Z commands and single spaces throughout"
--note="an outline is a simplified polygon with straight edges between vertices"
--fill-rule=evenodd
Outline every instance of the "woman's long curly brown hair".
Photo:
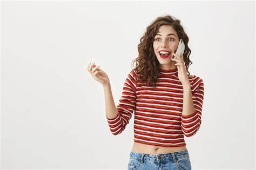
M 183 26 L 180 24 L 180 20 L 170 15 L 157 17 L 149 26 L 147 26 L 146 32 L 140 38 L 140 43 L 138 45 L 139 55 L 132 61 L 132 65 L 134 62 L 136 62 L 136 68 L 133 70 L 137 74 L 137 79 L 139 79 L 140 82 L 146 83 L 150 86 L 152 86 L 152 83 L 154 83 L 154 86 L 156 86 L 156 81 L 160 72 L 160 63 L 158 62 L 156 54 L 154 53 L 153 42 L 154 36 L 156 36 L 156 33 L 159 32 L 159 27 L 161 25 L 171 25 L 172 28 L 177 32 L 179 39 L 183 39 L 185 44 L 183 57 L 187 72 L 189 65 L 192 64 L 189 58 L 191 50 L 187 45 L 189 39 L 183 29 Z M 188 76 L 189 75 L 190 72 L 188 72 Z

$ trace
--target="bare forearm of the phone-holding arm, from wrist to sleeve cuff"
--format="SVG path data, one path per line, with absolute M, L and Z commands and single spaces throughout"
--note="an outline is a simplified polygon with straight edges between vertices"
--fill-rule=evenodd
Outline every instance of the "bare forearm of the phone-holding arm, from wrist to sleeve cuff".
M 192 93 L 191 93 L 191 86 L 185 85 L 183 86 L 183 110 L 182 115 L 190 115 L 196 111 L 194 108 Z

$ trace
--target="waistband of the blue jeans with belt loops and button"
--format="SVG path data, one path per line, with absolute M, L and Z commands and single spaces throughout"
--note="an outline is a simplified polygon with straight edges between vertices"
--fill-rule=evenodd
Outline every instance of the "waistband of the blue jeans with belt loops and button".
M 172 153 L 162 153 L 162 154 L 145 154 L 145 153 L 137 153 L 137 152 L 130 152 L 130 159 L 137 159 L 143 163 L 143 161 L 173 161 L 181 158 L 189 158 L 189 154 L 187 149 L 183 151 L 177 151 Z

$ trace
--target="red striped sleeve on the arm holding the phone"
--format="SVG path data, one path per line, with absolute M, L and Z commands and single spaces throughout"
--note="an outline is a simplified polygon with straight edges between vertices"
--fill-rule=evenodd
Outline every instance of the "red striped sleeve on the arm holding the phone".
M 192 99 L 196 111 L 190 115 L 181 115 L 181 130 L 186 137 L 192 137 L 196 134 L 201 125 L 204 100 L 204 82 L 203 79 L 197 76 L 195 76 L 193 80 Z

